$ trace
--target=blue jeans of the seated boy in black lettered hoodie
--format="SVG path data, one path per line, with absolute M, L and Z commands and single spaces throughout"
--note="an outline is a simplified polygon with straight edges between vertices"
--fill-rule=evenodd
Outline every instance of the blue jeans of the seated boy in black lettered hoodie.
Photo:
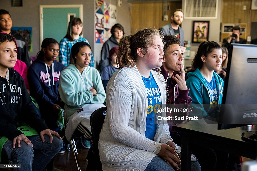
M 57 136 L 53 135 L 53 142 L 50 143 L 50 137 L 44 135 L 45 142 L 39 135 L 29 136 L 33 147 L 27 145 L 24 141 L 21 141 L 21 147 L 18 148 L 17 142 L 15 148 L 13 148 L 13 142 L 7 140 L 3 146 L 8 160 L 11 160 L 13 164 L 21 164 L 21 168 L 14 168 L 15 171 L 20 170 L 43 170 L 50 160 L 60 151 L 63 141 Z

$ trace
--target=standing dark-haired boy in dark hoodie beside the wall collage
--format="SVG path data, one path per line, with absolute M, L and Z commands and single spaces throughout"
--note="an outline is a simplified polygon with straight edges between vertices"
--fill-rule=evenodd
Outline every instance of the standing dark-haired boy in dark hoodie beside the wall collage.
M 111 33 L 112 36 L 104 43 L 101 50 L 101 71 L 104 71 L 104 67 L 111 63 L 109 60 L 109 52 L 114 46 L 119 46 L 120 40 L 124 35 L 124 27 L 121 24 L 116 23 L 112 26 Z

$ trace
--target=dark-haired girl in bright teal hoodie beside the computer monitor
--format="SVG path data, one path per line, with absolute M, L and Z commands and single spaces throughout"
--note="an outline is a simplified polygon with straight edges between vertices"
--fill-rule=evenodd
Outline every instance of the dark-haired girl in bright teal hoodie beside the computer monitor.
M 186 81 L 192 104 L 198 104 L 191 115 L 198 119 L 215 115 L 214 111 L 222 102 L 224 81 L 214 72 L 219 70 L 221 63 L 222 50 L 218 43 L 207 41 L 199 45 Z

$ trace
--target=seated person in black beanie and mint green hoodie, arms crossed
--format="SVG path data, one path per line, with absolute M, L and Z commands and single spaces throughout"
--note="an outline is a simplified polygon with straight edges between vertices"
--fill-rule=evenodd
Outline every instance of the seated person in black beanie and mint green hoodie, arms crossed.
M 59 93 L 65 103 L 68 125 L 65 136 L 69 141 L 78 129 L 86 139 L 91 139 L 89 117 L 96 109 L 104 107 L 105 90 L 97 69 L 88 66 L 91 47 L 77 42 L 71 48 L 75 65 L 70 64 L 60 75 Z

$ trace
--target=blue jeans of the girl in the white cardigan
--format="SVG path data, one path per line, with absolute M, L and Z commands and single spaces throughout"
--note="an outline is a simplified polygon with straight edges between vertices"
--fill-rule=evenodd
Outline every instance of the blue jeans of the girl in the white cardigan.
M 181 156 L 179 155 L 181 159 Z M 182 161 L 181 161 L 182 162 Z M 178 165 L 179 171 L 181 170 L 181 166 Z M 158 156 L 155 156 L 151 163 L 145 168 L 145 171 L 175 171 L 172 167 L 170 167 L 163 159 Z M 177 171 L 177 170 L 176 170 Z M 198 160 L 191 161 L 191 171 L 201 171 L 201 166 L 198 163 Z

